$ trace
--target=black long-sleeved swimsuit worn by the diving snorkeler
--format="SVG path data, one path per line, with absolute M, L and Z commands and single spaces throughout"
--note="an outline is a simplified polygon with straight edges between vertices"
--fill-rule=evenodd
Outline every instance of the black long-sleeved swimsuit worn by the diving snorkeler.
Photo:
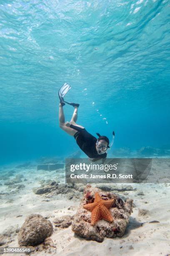
M 81 150 L 90 158 L 106 158 L 107 153 L 98 154 L 96 150 L 97 138 L 86 131 L 85 128 L 80 128 L 77 125 L 70 125 L 70 128 L 77 131 L 74 138 Z

